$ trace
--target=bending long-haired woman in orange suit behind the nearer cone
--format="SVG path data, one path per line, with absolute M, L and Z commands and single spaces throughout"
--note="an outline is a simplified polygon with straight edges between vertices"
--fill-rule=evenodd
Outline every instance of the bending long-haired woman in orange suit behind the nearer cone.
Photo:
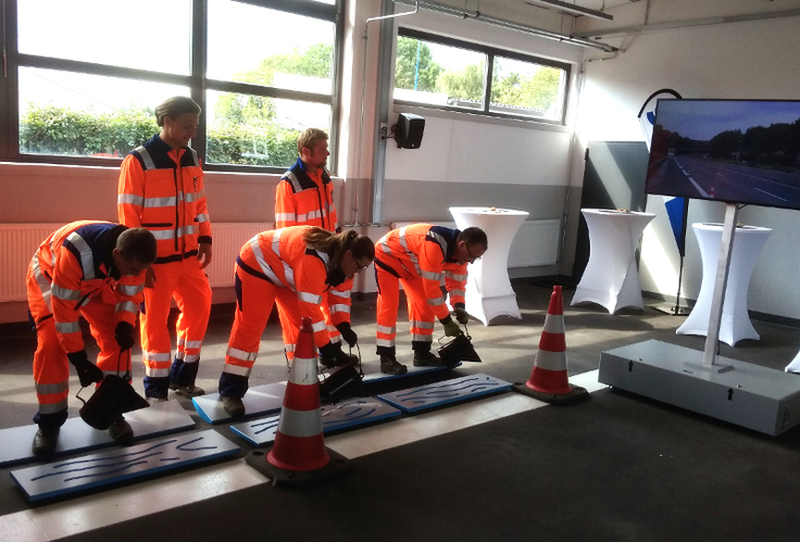
M 314 343 L 326 367 L 348 365 L 321 311 L 324 294 L 370 266 L 375 247 L 354 230 L 334 234 L 315 226 L 290 226 L 262 231 L 248 241 L 236 259 L 236 316 L 230 330 L 220 396 L 230 416 L 245 415 L 241 398 L 259 354 L 261 333 L 277 303 L 293 326 L 311 318 Z

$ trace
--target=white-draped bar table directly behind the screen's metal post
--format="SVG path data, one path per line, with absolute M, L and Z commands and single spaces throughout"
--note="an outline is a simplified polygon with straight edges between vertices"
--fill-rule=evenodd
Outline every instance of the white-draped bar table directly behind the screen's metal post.
M 678 335 L 708 336 L 711 303 L 716 280 L 716 267 L 720 260 L 720 243 L 722 242 L 722 224 L 696 223 L 691 229 L 700 247 L 700 257 L 703 262 L 703 280 L 700 283 L 700 293 L 697 303 L 689 316 L 677 329 Z M 755 226 L 738 226 L 734 234 L 734 245 L 730 249 L 730 265 L 728 267 L 728 282 L 722 304 L 720 319 L 720 340 L 735 345 L 741 339 L 760 339 L 759 333 L 750 323 L 747 313 L 747 292 L 750 286 L 750 276 L 755 267 L 759 252 L 770 237 L 770 228 Z

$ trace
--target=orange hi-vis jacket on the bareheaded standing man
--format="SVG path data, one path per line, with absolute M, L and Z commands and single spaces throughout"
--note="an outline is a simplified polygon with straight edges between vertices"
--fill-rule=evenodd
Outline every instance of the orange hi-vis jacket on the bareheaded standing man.
M 336 231 L 334 184 L 324 168 L 320 172 L 318 180 L 313 179 L 305 172 L 302 160 L 298 159 L 284 174 L 275 193 L 276 228 L 318 226 Z

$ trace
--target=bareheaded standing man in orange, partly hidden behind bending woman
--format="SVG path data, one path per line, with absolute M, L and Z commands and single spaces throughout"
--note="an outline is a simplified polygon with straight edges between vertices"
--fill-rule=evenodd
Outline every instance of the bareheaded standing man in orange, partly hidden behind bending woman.
M 340 231 L 336 222 L 334 184 L 325 169 L 330 155 L 328 135 L 321 129 L 307 128 L 297 140 L 297 150 L 300 157 L 284 174 L 275 190 L 275 227 L 318 226 L 328 231 Z M 352 287 L 353 281 L 346 280 L 328 291 L 321 305 L 330 341 L 339 342 L 343 337 L 350 346 L 355 345 L 355 332 L 350 327 Z M 299 323 L 287 323 L 279 305 L 278 316 L 284 331 L 286 356 L 291 360 L 300 329 Z

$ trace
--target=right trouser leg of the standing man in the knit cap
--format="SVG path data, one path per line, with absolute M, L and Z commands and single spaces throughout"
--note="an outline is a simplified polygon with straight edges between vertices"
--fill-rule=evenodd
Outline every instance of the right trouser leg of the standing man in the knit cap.
M 170 371 L 170 381 L 178 386 L 192 386 L 200 362 L 200 346 L 209 326 L 211 287 L 196 257 L 185 259 L 182 269 L 173 293 L 180 315 L 176 324 L 177 354 Z

